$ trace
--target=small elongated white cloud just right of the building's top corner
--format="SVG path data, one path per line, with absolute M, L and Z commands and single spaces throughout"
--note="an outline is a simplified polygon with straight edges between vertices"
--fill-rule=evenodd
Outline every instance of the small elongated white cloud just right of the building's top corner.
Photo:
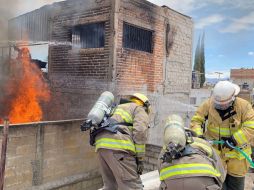
M 222 15 L 214 14 L 214 15 L 210 15 L 208 17 L 205 17 L 205 18 L 202 18 L 202 19 L 198 20 L 196 22 L 195 27 L 197 29 L 203 29 L 206 26 L 209 26 L 209 25 L 212 25 L 212 24 L 217 24 L 217 23 L 220 23 L 224 20 L 225 20 L 225 18 Z

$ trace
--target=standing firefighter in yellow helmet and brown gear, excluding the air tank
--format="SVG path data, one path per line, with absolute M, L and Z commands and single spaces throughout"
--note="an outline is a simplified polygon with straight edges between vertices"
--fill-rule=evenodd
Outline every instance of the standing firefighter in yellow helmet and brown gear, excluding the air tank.
M 143 189 L 145 143 L 151 106 L 148 98 L 135 93 L 120 103 L 110 117 L 114 121 L 111 133 L 104 130 L 95 137 L 95 148 L 100 161 L 103 190 Z

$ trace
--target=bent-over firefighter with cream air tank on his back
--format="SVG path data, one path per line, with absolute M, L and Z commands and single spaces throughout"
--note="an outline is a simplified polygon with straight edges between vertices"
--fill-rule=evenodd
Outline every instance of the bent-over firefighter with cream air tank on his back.
M 160 190 L 219 190 L 226 173 L 222 162 L 204 139 L 193 137 L 178 115 L 170 115 L 158 168 Z

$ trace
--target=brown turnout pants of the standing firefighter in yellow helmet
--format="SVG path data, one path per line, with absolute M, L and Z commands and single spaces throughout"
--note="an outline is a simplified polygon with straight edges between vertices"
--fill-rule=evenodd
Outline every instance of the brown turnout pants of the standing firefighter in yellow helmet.
M 103 190 L 142 190 L 134 156 L 116 150 L 97 151 L 103 179 Z

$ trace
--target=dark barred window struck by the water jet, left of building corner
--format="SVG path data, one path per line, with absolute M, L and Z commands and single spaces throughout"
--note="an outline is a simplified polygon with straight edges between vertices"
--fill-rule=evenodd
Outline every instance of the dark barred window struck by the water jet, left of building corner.
M 105 41 L 105 23 L 78 25 L 72 29 L 72 45 L 77 48 L 101 48 Z

